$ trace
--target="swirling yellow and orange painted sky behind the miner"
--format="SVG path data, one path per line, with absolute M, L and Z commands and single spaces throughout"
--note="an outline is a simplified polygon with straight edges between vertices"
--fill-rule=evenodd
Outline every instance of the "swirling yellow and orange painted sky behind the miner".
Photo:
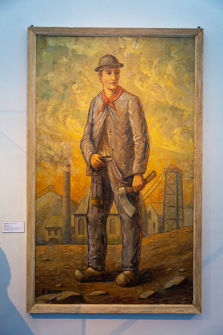
M 124 63 L 119 85 L 143 104 L 150 138 L 145 176 L 178 166 L 187 205 L 193 201 L 194 38 L 37 37 L 36 193 L 50 184 L 62 192 L 65 159 L 72 199 L 80 202 L 90 186 L 79 146 L 90 102 L 102 90 L 94 69 L 107 53 Z M 161 183 L 146 203 L 162 201 L 163 189 Z

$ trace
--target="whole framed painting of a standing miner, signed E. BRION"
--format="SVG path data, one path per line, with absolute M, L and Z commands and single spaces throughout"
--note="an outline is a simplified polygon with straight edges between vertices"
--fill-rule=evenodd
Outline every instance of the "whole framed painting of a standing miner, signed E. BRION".
M 28 28 L 28 313 L 201 313 L 202 85 L 200 27 Z

